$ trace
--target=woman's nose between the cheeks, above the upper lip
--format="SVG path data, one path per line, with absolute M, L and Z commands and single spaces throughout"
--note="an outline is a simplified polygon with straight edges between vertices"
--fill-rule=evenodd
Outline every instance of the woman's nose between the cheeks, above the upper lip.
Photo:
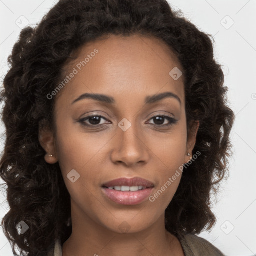
M 112 162 L 115 164 L 123 163 L 126 166 L 148 162 L 149 149 L 146 145 L 145 136 L 141 135 L 141 133 L 138 132 L 136 125 L 133 124 L 127 130 L 118 127 L 117 134 L 112 141 Z

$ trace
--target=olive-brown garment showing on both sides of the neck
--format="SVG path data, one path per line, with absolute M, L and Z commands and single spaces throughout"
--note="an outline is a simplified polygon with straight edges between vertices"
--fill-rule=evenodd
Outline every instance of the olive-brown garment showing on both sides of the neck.
M 224 256 L 224 254 L 210 242 L 194 234 L 187 234 L 180 239 L 185 256 Z M 55 242 L 55 248 L 47 256 L 62 256 L 62 246 L 59 240 Z

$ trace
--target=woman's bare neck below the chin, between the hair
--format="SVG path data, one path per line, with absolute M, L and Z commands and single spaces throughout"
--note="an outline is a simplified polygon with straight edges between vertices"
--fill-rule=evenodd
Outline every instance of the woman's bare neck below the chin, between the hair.
M 72 233 L 62 246 L 63 256 L 184 255 L 178 239 L 165 229 L 164 214 L 146 229 L 124 233 L 109 230 L 77 209 L 71 212 Z

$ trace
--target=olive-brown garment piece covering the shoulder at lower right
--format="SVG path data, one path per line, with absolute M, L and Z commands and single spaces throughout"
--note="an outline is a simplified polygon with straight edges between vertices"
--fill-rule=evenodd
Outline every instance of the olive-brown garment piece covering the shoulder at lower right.
M 210 242 L 194 234 L 186 234 L 180 238 L 185 256 L 224 256 L 224 254 Z

